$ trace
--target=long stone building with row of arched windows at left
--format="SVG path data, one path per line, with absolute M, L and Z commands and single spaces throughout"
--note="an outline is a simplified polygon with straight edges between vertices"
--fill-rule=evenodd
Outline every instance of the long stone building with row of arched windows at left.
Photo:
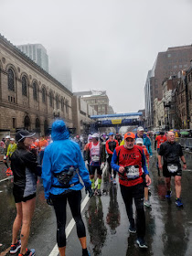
M 73 127 L 72 93 L 0 35 L 0 132 L 47 133 L 57 117 Z

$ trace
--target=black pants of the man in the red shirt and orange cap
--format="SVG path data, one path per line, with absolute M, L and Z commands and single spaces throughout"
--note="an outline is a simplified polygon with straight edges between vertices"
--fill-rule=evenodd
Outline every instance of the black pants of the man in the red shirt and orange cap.
M 145 215 L 144 215 L 144 183 L 137 184 L 133 187 L 125 187 L 120 185 L 123 201 L 125 204 L 127 216 L 130 225 L 134 227 L 133 219 L 133 198 L 137 212 L 136 217 L 136 229 L 137 236 L 144 238 L 145 234 Z

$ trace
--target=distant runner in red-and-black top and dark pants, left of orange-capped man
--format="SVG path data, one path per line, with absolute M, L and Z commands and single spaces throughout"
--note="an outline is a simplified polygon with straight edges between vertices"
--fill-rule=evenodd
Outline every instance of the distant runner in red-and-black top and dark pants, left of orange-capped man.
M 109 133 L 109 140 L 106 141 L 105 147 L 106 147 L 106 151 L 108 153 L 108 158 L 107 158 L 107 162 L 109 165 L 109 173 L 111 176 L 111 181 L 113 180 L 113 184 L 117 184 L 115 177 L 116 177 L 116 172 L 113 172 L 113 179 L 112 179 L 112 166 L 111 166 L 111 162 L 112 162 L 112 154 L 114 149 L 118 146 L 118 141 L 114 140 L 114 133 Z

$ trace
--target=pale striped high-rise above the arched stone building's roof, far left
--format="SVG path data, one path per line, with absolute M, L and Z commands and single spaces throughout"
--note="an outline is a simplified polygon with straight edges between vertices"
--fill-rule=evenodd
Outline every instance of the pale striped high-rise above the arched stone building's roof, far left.
M 38 66 L 48 72 L 47 49 L 44 48 L 42 45 L 27 44 L 16 46 L 16 48 L 19 48 L 23 53 L 27 55 L 28 58 L 32 59 L 34 62 L 37 63 Z

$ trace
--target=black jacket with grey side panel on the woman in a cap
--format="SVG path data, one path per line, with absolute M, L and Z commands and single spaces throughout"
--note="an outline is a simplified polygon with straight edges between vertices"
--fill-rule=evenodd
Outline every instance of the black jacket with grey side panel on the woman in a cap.
M 28 197 L 37 191 L 37 175 L 41 167 L 37 157 L 24 148 L 17 148 L 11 157 L 11 169 L 14 175 L 14 189 L 20 196 Z

